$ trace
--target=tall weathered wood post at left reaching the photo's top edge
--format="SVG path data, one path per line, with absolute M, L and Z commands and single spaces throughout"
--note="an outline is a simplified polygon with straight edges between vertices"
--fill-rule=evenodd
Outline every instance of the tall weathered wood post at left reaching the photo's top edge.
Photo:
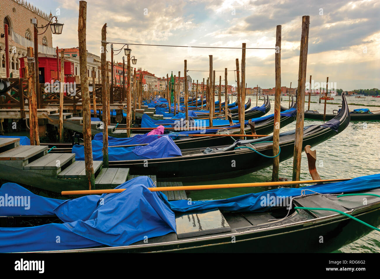
M 83 110 L 83 141 L 84 164 L 86 176 L 89 181 L 89 189 L 95 189 L 95 176 L 92 162 L 91 143 L 91 115 L 89 80 L 87 76 L 87 49 L 86 49 L 86 20 L 87 2 L 79 1 L 78 39 L 79 39 L 79 68 L 81 72 L 82 110 Z

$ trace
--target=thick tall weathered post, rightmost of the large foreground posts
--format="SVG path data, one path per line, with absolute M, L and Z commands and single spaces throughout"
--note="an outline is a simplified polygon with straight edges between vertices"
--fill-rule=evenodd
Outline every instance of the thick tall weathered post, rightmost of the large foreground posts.
M 309 24 L 310 17 L 302 16 L 301 47 L 299 50 L 299 69 L 298 69 L 298 94 L 297 94 L 297 122 L 294 140 L 293 157 L 293 181 L 299 180 L 301 173 L 301 153 L 302 139 L 304 130 L 304 108 L 305 108 L 305 82 L 307 65 L 307 48 L 309 44 Z M 296 185 L 298 188 L 299 185 Z

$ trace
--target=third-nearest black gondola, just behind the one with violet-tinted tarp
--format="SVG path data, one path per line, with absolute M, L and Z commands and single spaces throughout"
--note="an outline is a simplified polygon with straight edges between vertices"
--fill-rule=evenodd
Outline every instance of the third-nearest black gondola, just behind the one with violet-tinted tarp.
M 287 113 L 288 110 L 282 112 Z M 293 113 L 293 112 L 291 112 Z M 271 134 L 273 132 L 273 125 L 274 125 L 274 117 L 271 115 L 268 115 L 266 117 L 255 118 L 253 120 L 253 124 L 255 126 L 255 132 L 258 135 L 266 135 Z M 292 123 L 295 120 L 295 112 L 292 116 L 280 116 L 280 127 L 283 128 L 286 125 Z M 238 126 L 238 125 L 237 125 Z M 145 131 L 146 132 L 146 131 Z M 251 134 L 251 127 L 250 125 L 245 125 L 244 128 L 245 134 Z M 186 132 L 182 132 L 186 133 Z M 236 129 L 211 129 L 208 130 L 207 133 L 215 134 L 240 134 L 240 128 Z M 174 143 L 182 150 L 182 149 L 188 149 L 188 148 L 202 148 L 202 147 L 208 147 L 208 146 L 217 146 L 217 145 L 226 145 L 229 143 L 233 143 L 237 138 L 236 137 L 211 137 L 211 136 L 204 136 L 204 137 L 192 137 L 191 135 L 189 137 L 180 137 L 179 139 L 174 139 Z M 83 143 L 81 143 L 83 144 Z M 73 147 L 73 144 L 71 143 L 41 143 L 41 145 L 47 145 L 49 148 L 55 147 L 51 150 L 51 153 L 71 153 L 71 149 Z M 147 145 L 146 144 L 140 144 L 140 145 Z M 113 147 L 133 147 L 137 145 L 117 145 Z

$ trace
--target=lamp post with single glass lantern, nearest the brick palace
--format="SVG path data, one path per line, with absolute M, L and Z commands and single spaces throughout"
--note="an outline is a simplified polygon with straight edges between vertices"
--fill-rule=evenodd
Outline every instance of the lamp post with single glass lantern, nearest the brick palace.
M 55 22 L 52 22 L 52 20 L 55 18 Z M 46 31 L 48 26 L 50 25 L 51 32 L 53 34 L 60 35 L 62 34 L 62 28 L 63 23 L 58 22 L 57 16 L 53 16 L 49 23 L 45 26 L 37 27 L 37 19 L 31 19 L 32 24 L 34 25 L 34 65 L 35 65 L 35 71 L 36 71 L 36 98 L 37 98 L 37 105 L 39 108 L 41 108 L 41 100 L 40 100 L 40 72 L 38 70 L 38 35 L 43 35 Z M 40 28 L 46 28 L 43 33 L 38 34 L 38 30 Z

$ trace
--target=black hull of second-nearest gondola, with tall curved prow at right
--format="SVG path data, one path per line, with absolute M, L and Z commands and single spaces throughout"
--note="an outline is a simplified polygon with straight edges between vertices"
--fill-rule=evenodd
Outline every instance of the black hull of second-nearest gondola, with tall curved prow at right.
M 321 124 L 304 127 L 302 148 L 306 145 L 315 146 L 325 140 L 342 132 L 350 122 L 350 113 L 345 96 L 342 95 L 342 109 L 334 119 Z M 285 161 L 294 153 L 295 130 L 280 134 L 280 161 Z M 110 167 L 126 167 L 130 174 L 157 175 L 161 181 L 202 181 L 231 178 L 252 173 L 268 167 L 272 164 L 272 143 L 261 143 L 271 141 L 272 136 L 256 140 L 237 141 L 230 146 L 217 146 L 210 148 L 192 148 L 182 150 L 182 156 L 130 160 L 110 161 Z M 244 148 L 241 148 L 244 146 Z M 256 150 L 256 151 L 254 151 Z M 149 167 L 145 167 L 148 165 Z

